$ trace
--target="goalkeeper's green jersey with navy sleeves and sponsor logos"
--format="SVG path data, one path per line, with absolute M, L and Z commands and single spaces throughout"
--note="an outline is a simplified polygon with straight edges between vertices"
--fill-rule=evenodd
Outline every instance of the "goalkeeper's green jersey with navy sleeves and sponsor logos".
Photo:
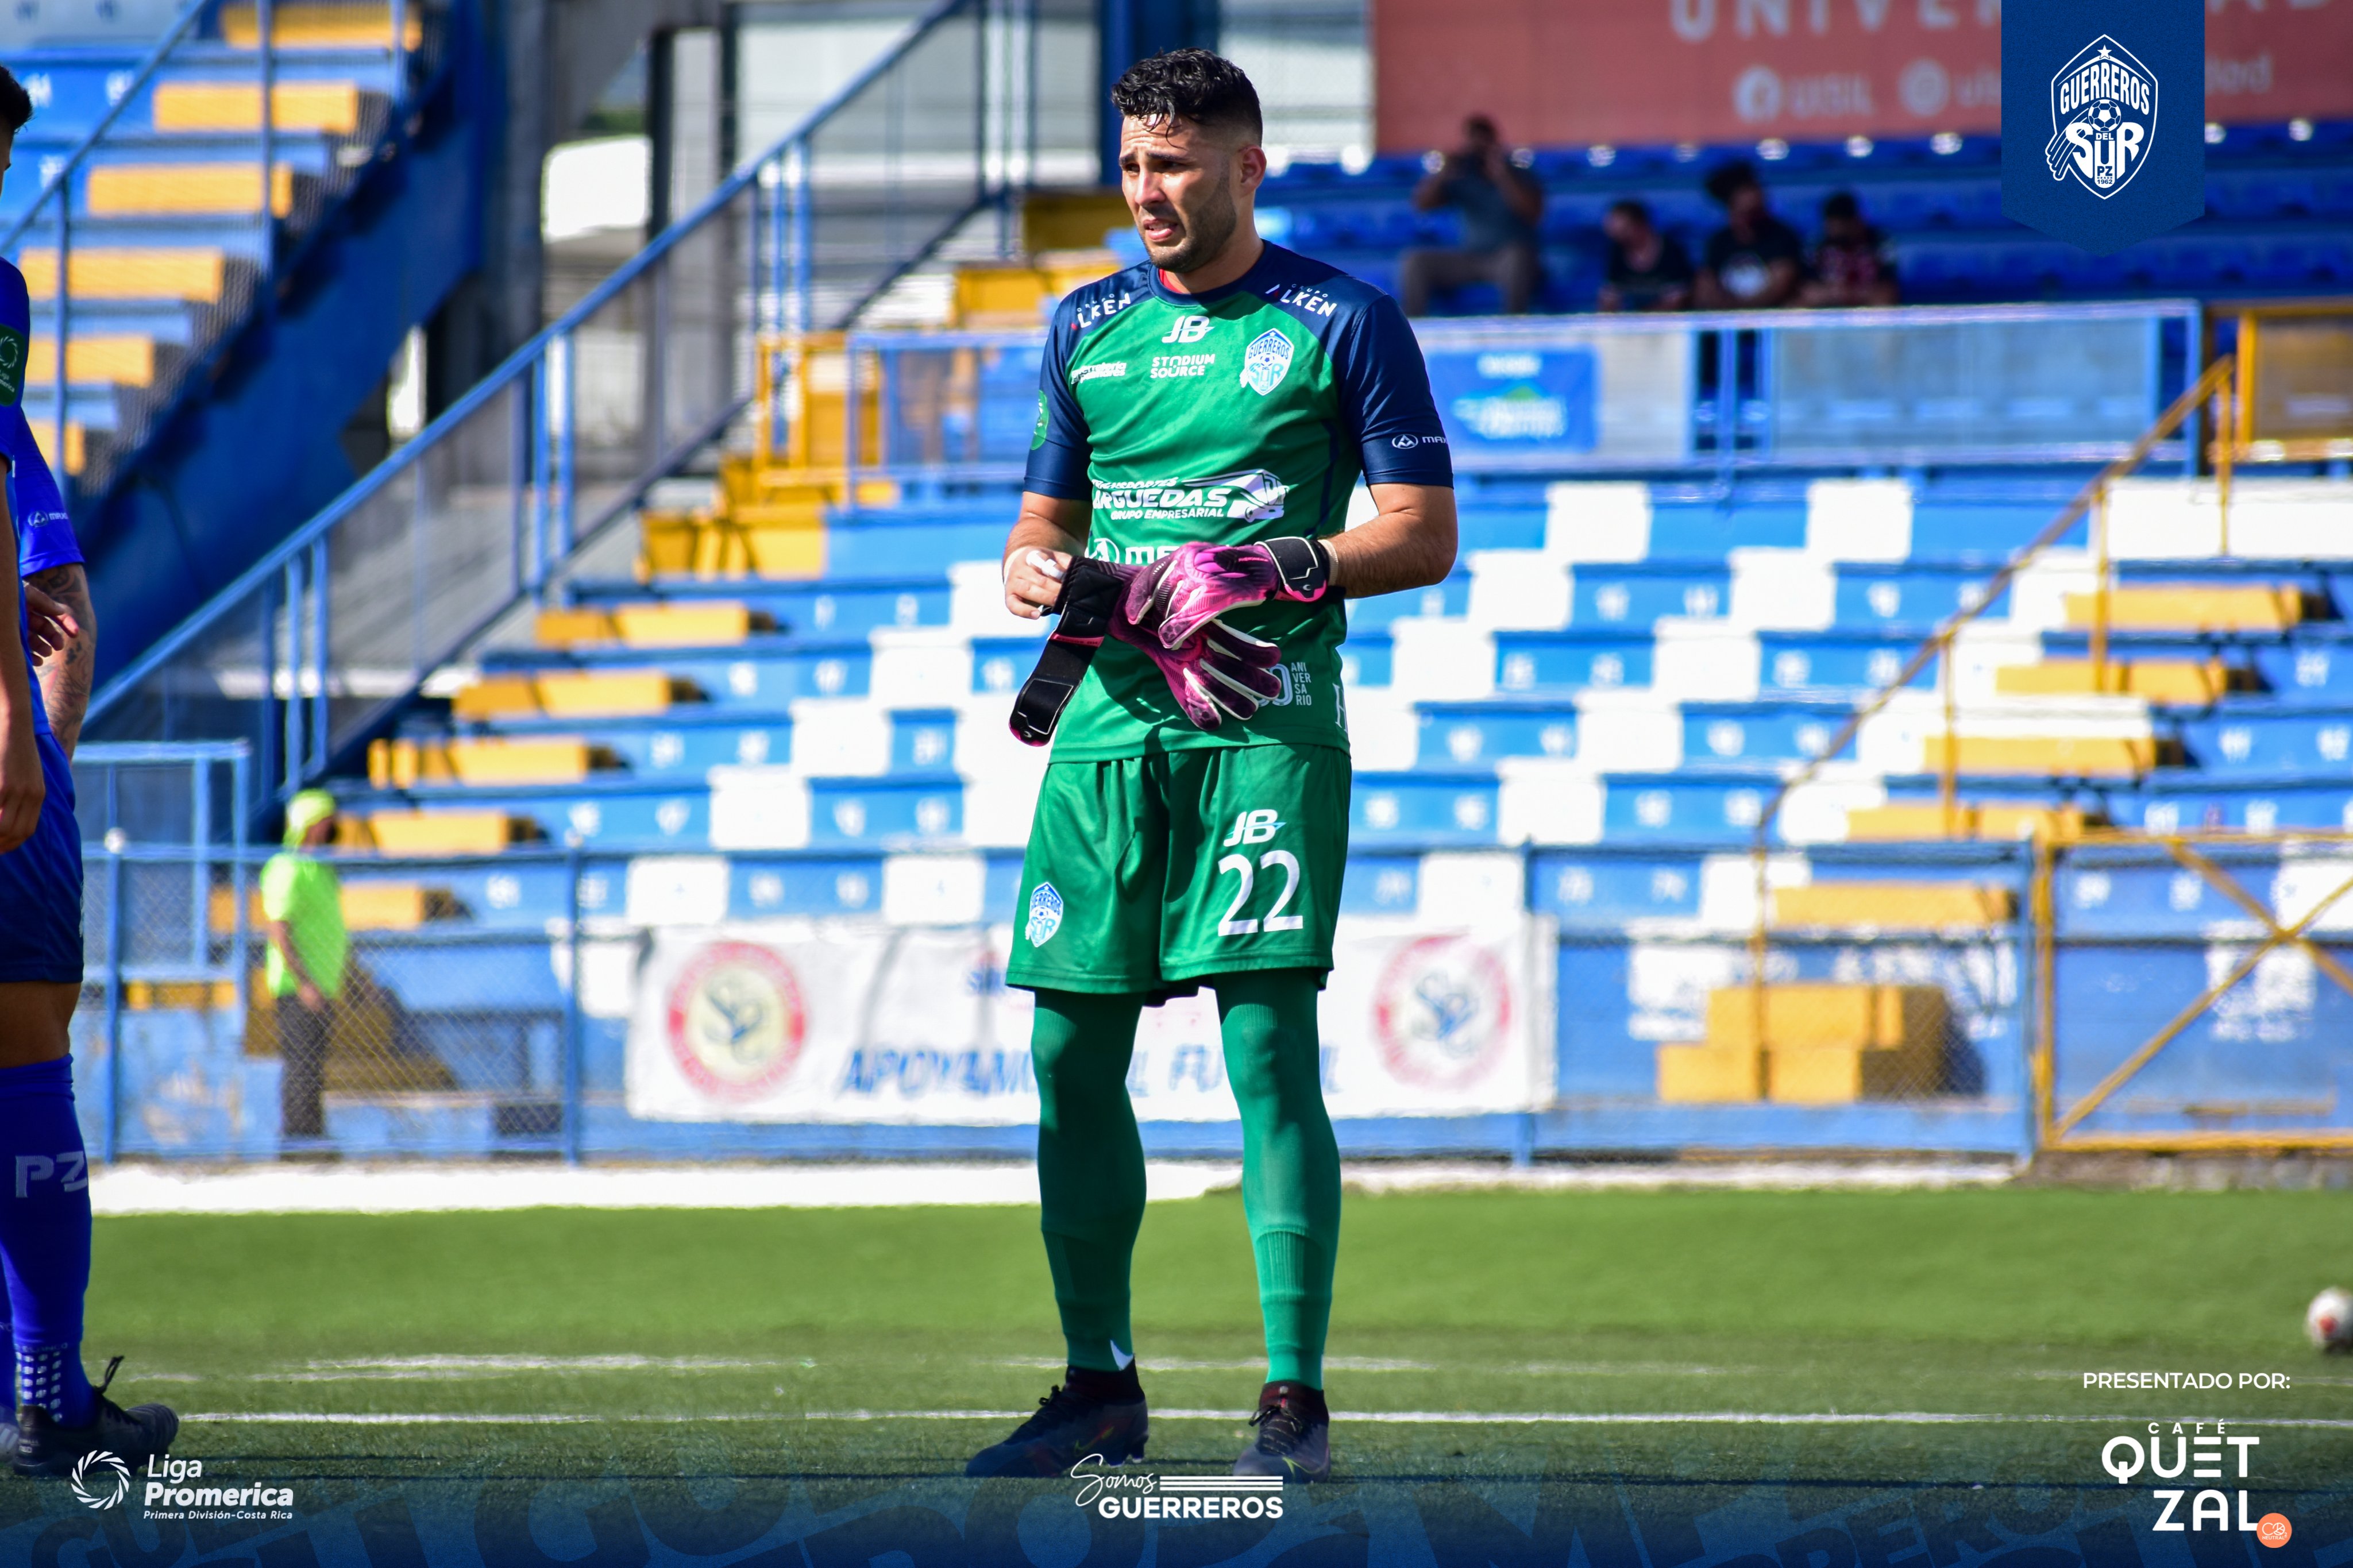
M 1421 346 L 1395 301 L 1268 244 L 1181 294 L 1139 263 L 1054 310 L 1024 489 L 1092 498 L 1087 555 L 1144 564 L 1188 541 L 1339 534 L 1367 484 L 1452 484 Z M 1282 649 L 1282 693 L 1195 729 L 1153 663 L 1106 639 L 1054 731 L 1061 762 L 1200 745 L 1348 745 L 1339 595 L 1228 611 Z

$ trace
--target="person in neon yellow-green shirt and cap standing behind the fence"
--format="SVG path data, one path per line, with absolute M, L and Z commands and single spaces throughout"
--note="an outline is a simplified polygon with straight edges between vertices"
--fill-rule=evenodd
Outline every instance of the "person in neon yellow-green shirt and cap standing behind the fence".
M 278 1114 L 285 1138 L 325 1138 L 320 1091 L 327 1037 L 344 999 L 351 933 L 344 886 L 311 851 L 334 839 L 334 797 L 304 790 L 287 802 L 285 849 L 261 867 L 261 919 L 268 957 L 261 971 L 278 1023 Z

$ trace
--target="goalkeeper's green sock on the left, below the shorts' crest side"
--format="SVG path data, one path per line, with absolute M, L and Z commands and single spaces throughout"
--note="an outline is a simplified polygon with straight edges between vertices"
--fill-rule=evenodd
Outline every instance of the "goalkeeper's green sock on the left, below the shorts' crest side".
M 1071 1366 L 1134 1361 L 1127 1267 L 1144 1225 L 1144 1140 L 1127 1103 L 1141 997 L 1038 992 L 1038 1197 Z

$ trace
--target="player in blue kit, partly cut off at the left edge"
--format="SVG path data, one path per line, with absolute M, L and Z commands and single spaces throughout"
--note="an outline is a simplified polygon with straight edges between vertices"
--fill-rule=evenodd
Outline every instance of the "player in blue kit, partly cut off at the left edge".
M 33 103 L 0 71 L 0 172 Z M 16 1422 L 0 1427 L 16 1474 L 61 1476 L 92 1453 L 127 1465 L 162 1453 L 179 1418 L 162 1406 L 125 1410 L 82 1371 L 82 1295 L 89 1288 L 89 1157 L 73 1114 L 68 1060 L 73 1004 L 82 994 L 82 835 L 73 773 L 40 689 L 35 658 L 80 651 L 87 628 L 24 578 L 80 583 L 80 550 L 56 503 L 56 482 L 24 418 L 31 357 L 24 273 L 0 261 L 0 461 L 14 637 L 0 637 L 0 1262 L 14 1338 Z M 56 576 L 71 569 L 68 576 Z M 35 616 L 35 609 L 40 614 Z M 80 644 L 80 649 L 75 649 Z M 80 719 L 78 705 L 73 719 Z M 108 1368 L 108 1378 L 113 1368 Z

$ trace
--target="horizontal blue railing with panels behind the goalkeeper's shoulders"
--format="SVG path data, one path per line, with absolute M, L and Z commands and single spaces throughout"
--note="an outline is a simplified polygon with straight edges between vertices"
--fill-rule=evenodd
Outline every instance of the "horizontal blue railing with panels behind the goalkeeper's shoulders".
M 2195 301 L 1414 322 L 1468 475 L 1897 463 L 2092 463 L 2191 383 Z M 1035 416 L 1035 331 L 854 334 L 856 397 L 894 480 L 1009 480 Z M 871 378 L 871 381 L 868 381 Z M 2162 442 L 2195 463 L 2202 409 Z

